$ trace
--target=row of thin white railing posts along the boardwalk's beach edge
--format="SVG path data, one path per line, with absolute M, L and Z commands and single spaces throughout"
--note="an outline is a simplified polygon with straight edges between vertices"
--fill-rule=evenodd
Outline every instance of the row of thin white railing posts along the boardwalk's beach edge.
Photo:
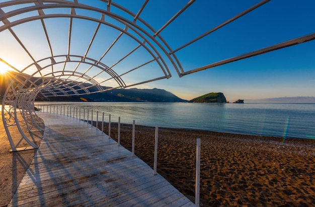
M 81 107 L 73 107 L 73 106 L 60 106 L 60 105 L 37 105 L 39 112 L 43 113 L 53 113 L 57 115 L 69 116 L 76 119 L 81 120 L 83 116 L 83 121 L 86 121 L 87 124 L 91 124 L 94 127 L 94 120 L 93 115 L 96 114 L 95 120 L 95 128 L 98 129 L 99 126 L 99 111 L 95 113 L 93 110 Z M 87 114 L 87 116 L 86 116 Z M 90 120 L 91 118 L 91 120 Z M 101 131 L 104 133 L 104 112 L 102 113 L 102 123 L 101 123 Z M 108 137 L 111 138 L 111 115 L 108 116 Z M 154 162 L 153 162 L 153 175 L 156 175 L 156 168 L 157 168 L 157 146 L 158 146 L 158 137 L 159 137 L 159 127 L 155 127 L 155 140 L 154 140 Z M 120 145 L 120 117 L 118 117 L 118 133 L 117 133 L 117 143 Z M 134 156 L 134 146 L 135 145 L 135 121 L 132 122 L 132 149 L 131 149 L 131 156 Z M 200 149 L 201 149 L 201 140 L 200 138 L 197 139 L 196 143 L 196 185 L 195 185 L 195 205 L 199 206 L 200 200 Z

